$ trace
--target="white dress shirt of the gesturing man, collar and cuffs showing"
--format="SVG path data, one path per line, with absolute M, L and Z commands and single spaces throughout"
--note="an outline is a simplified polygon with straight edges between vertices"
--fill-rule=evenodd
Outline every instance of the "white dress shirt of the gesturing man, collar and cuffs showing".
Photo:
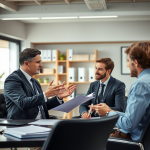
M 24 74 L 24 76 L 27 78 L 27 80 L 28 80 L 28 82 L 31 84 L 31 87 L 33 88 L 33 85 L 32 85 L 32 82 L 31 82 L 31 76 L 29 75 L 29 74 L 27 74 L 25 71 L 23 71 L 21 68 L 20 68 L 20 70 L 21 70 L 21 72 Z M 38 92 L 38 90 L 37 90 L 37 92 Z M 38 94 L 39 94 L 39 92 L 38 92 Z M 47 98 L 46 98 L 46 96 L 45 96 L 45 92 L 43 92 L 43 95 L 44 95 L 44 100 L 45 100 L 45 102 L 47 102 Z M 60 100 L 60 99 L 58 99 L 58 97 L 57 97 L 57 100 L 58 100 L 58 102 L 60 103 L 60 104 L 62 104 L 62 100 Z M 42 106 L 43 107 L 43 106 Z M 42 117 L 42 114 L 41 114 L 41 111 L 40 111 L 40 108 L 39 108 L 39 113 L 38 113 L 38 115 L 37 115 L 37 117 L 36 117 L 36 119 L 42 119 L 43 117 Z

